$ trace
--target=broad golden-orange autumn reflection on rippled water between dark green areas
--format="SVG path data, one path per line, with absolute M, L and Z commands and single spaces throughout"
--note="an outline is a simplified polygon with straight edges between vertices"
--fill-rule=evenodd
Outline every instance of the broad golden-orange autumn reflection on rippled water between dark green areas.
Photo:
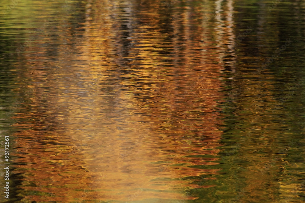
M 81 28 L 46 28 L 22 55 L 25 200 L 196 199 L 185 191 L 214 187 L 193 180 L 219 170 L 205 168 L 222 133 L 218 48 L 203 7 L 168 3 L 88 3 Z

